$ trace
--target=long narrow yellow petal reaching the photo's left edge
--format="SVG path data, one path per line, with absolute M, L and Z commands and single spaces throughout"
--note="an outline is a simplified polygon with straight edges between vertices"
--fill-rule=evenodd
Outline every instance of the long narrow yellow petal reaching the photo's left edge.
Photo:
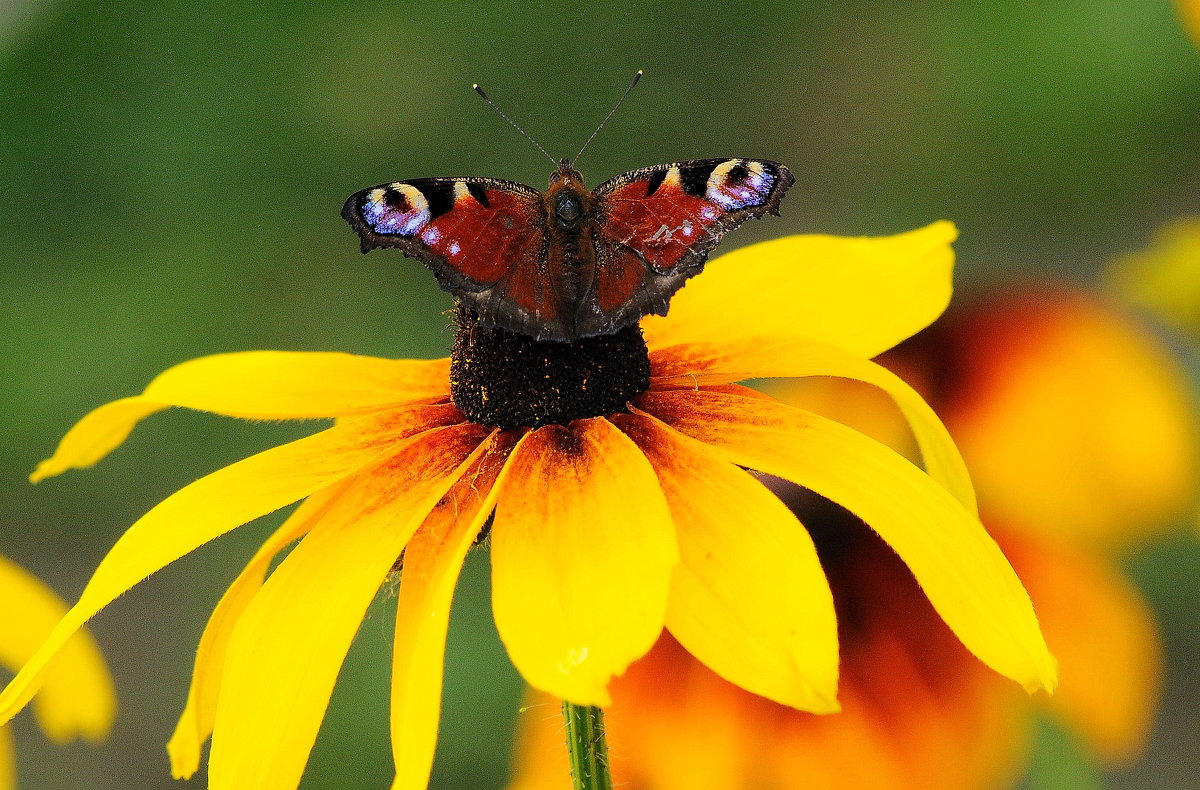
M 121 535 L 79 603 L 0 693 L 0 723 L 29 702 L 64 642 L 118 596 L 209 540 L 370 465 L 400 437 L 445 419 L 440 407 L 361 418 L 227 466 L 163 499 Z

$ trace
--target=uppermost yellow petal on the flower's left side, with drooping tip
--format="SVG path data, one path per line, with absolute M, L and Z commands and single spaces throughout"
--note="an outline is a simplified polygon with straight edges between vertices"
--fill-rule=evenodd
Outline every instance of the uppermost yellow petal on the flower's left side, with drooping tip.
M 163 371 L 136 397 L 106 403 L 62 437 L 34 483 L 91 466 L 145 417 L 170 406 L 248 419 L 341 417 L 449 397 L 449 360 L 377 359 L 332 352 L 241 352 Z

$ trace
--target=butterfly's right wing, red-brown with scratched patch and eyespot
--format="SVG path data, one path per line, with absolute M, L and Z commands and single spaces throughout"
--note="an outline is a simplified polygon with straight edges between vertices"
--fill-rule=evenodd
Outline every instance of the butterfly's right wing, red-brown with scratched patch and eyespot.
M 700 274 L 726 233 L 750 217 L 779 215 L 792 173 L 767 160 L 713 158 L 659 164 L 595 188 L 595 300 L 580 334 L 606 334 L 648 313 Z

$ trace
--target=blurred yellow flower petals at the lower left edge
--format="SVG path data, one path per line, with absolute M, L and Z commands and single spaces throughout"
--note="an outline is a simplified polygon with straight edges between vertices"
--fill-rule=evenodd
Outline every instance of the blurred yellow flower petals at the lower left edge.
M 0 665 L 16 672 L 37 651 L 67 608 L 20 565 L 0 557 Z M 32 689 L 37 724 L 52 741 L 100 741 L 116 714 L 113 680 L 91 635 L 78 632 Z M 17 786 L 12 736 L 0 726 L 0 790 Z

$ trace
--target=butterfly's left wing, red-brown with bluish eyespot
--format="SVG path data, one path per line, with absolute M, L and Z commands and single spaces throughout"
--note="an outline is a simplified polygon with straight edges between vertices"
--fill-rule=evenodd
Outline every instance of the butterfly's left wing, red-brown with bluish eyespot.
M 479 316 L 533 336 L 566 336 L 546 265 L 547 228 L 538 190 L 499 179 L 394 181 L 349 197 L 342 217 L 362 251 L 396 247 L 416 258 Z

